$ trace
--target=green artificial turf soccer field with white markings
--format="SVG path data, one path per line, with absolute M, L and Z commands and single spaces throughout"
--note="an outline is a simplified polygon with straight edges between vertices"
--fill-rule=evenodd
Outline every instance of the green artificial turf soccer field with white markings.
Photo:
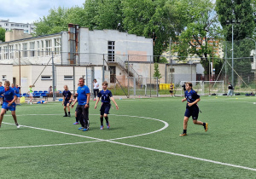
M 181 97 L 116 100 L 100 130 L 90 101 L 90 130 L 63 118 L 61 102 L 17 107 L 0 128 L 1 178 L 255 178 L 256 97 L 202 96 L 199 120 L 183 132 Z M 255 102 L 255 104 L 254 104 Z

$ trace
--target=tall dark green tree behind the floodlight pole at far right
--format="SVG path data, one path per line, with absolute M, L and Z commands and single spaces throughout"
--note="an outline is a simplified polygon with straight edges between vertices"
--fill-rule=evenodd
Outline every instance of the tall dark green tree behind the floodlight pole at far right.
M 251 5 L 251 0 L 217 0 L 216 1 L 216 11 L 218 13 L 218 20 L 223 27 L 224 38 L 229 41 L 226 43 L 227 49 L 232 49 L 232 25 L 227 24 L 227 20 L 236 20 L 240 23 L 233 24 L 233 34 L 234 34 L 234 57 L 239 58 L 235 60 L 234 70 L 241 77 L 247 77 L 251 71 L 251 61 L 248 61 L 250 51 L 253 42 L 248 40 L 243 40 L 244 38 L 251 38 L 255 29 L 254 17 L 253 17 L 253 7 Z M 232 50 L 227 50 L 228 57 L 231 58 Z M 231 60 L 228 60 L 231 64 Z M 232 71 L 232 69 L 230 69 Z M 234 76 L 235 80 L 237 76 Z M 247 78 L 244 78 L 247 81 Z M 234 85 L 234 84 L 233 84 Z

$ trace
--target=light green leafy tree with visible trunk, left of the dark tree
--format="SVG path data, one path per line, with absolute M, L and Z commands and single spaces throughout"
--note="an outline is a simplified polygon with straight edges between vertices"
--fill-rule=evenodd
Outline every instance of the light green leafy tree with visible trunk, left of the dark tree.
M 183 28 L 183 31 L 177 36 L 172 49 L 180 56 L 180 61 L 190 55 L 200 57 L 205 72 L 209 72 L 208 58 L 212 56 L 212 50 L 218 47 L 221 32 L 218 15 L 213 10 L 214 4 L 211 0 L 179 0 L 173 5 L 182 19 L 179 28 Z

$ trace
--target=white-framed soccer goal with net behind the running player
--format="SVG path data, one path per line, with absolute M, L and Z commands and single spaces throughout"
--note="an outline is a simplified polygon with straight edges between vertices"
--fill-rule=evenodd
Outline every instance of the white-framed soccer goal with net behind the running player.
M 181 81 L 182 86 L 186 81 Z M 224 81 L 191 81 L 193 90 L 198 95 L 223 95 L 224 94 Z M 183 87 L 181 87 L 181 95 L 183 95 Z

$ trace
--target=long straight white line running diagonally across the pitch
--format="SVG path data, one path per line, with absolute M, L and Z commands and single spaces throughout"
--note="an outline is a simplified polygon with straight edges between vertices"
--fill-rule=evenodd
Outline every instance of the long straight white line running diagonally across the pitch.
M 9 124 L 9 123 L 4 123 L 4 124 Z M 61 131 L 57 131 L 57 130 L 47 130 L 47 129 L 37 128 L 37 127 L 32 127 L 32 126 L 26 126 L 26 125 L 22 125 L 22 126 L 23 127 L 27 127 L 27 128 L 36 129 L 36 130 L 45 130 L 45 131 L 50 131 L 50 132 L 55 132 L 55 133 L 60 133 L 60 134 L 65 134 L 65 135 L 80 136 L 80 135 L 71 134 L 71 133 L 67 133 L 67 132 L 61 132 Z M 80 136 L 80 137 L 94 139 L 96 141 L 107 141 L 107 142 L 119 144 L 119 145 L 122 145 L 122 146 L 142 148 L 142 149 L 149 150 L 149 151 L 154 151 L 154 152 L 157 152 L 157 153 L 166 153 L 166 154 L 171 154 L 171 155 L 174 155 L 174 156 L 179 156 L 179 157 L 188 158 L 188 159 L 196 159 L 196 160 L 200 160 L 200 161 L 204 161 L 204 162 L 209 162 L 209 163 L 213 163 L 213 164 L 218 164 L 218 165 L 226 165 L 226 166 L 240 168 L 240 169 L 244 169 L 244 170 L 256 171 L 256 169 L 249 168 L 249 167 L 246 167 L 246 166 L 232 165 L 232 164 L 218 162 L 218 161 L 214 161 L 214 160 L 210 160 L 210 159 L 196 158 L 196 157 L 193 157 L 193 156 L 183 155 L 183 154 L 180 154 L 180 153 L 171 153 L 171 152 L 167 152 L 167 151 L 163 151 L 163 150 L 158 150 L 158 149 L 154 149 L 154 148 L 141 147 L 141 146 L 131 145 L 131 144 L 127 144 L 127 143 L 121 143 L 121 142 L 118 142 L 118 141 L 104 140 L 104 139 L 99 139 L 99 138 L 90 137 L 90 136 Z M 93 141 L 93 142 L 95 142 L 95 141 Z

